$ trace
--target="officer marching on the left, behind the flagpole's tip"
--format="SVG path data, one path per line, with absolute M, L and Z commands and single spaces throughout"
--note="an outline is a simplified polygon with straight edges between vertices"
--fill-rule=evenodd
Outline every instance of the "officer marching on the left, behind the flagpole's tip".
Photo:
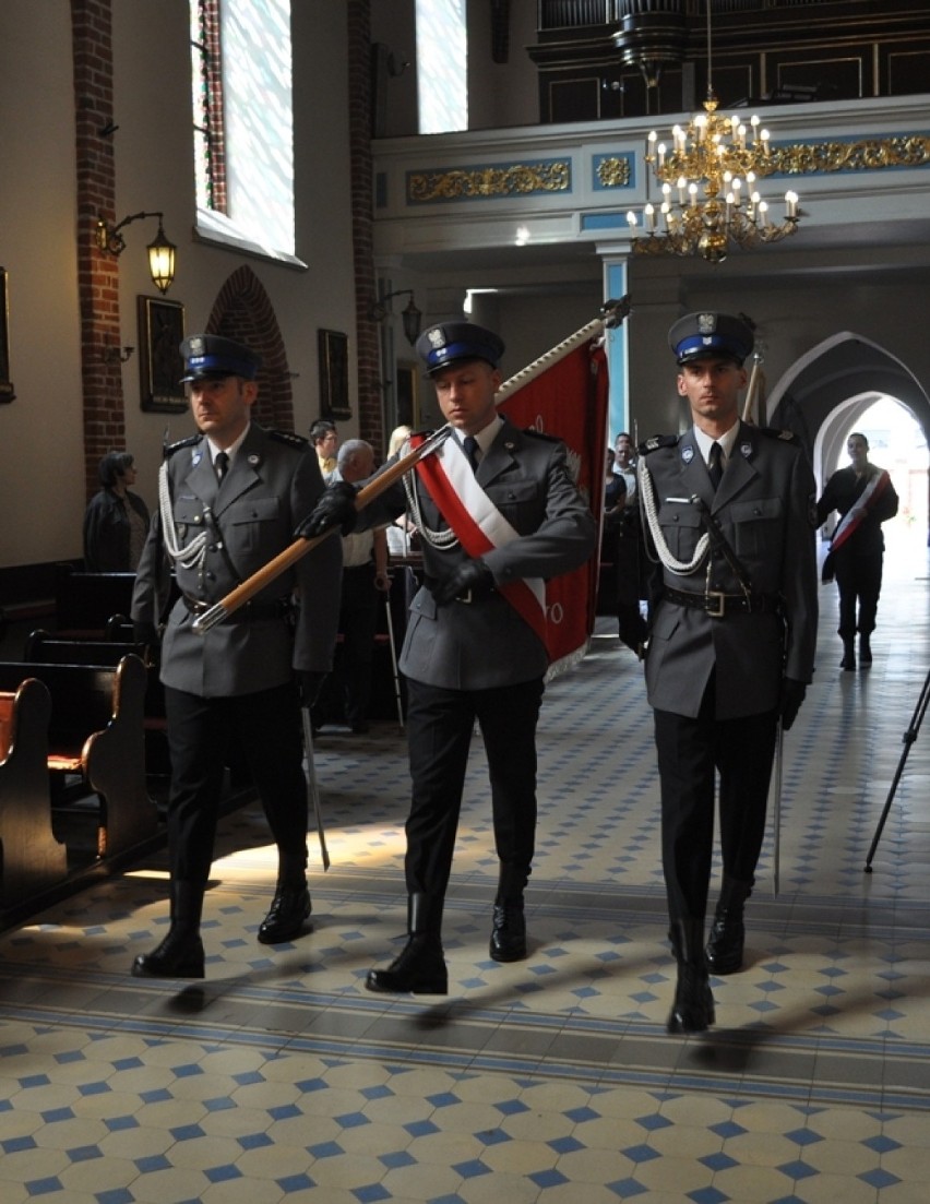
M 246 755 L 278 849 L 277 890 L 259 927 L 265 944 L 298 936 L 310 915 L 307 796 L 300 687 L 311 704 L 331 665 L 342 554 L 325 539 L 223 622 L 194 620 L 290 545 L 323 491 L 306 439 L 251 420 L 259 359 L 217 335 L 181 344 L 199 433 L 170 447 L 159 512 L 133 595 L 137 635 L 153 642 L 173 567 L 179 598 L 161 639 L 171 790 L 171 927 L 137 976 L 202 978 L 200 917 L 213 856 L 224 754 Z

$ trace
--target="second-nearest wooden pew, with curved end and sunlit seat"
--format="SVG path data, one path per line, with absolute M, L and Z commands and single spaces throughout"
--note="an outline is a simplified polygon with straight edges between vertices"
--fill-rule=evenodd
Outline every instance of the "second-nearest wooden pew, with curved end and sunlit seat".
M 113 857 L 154 836 L 158 811 L 146 789 L 146 667 L 0 661 L 0 690 L 37 678 L 52 697 L 48 769 L 80 774 L 100 801 L 96 852 Z

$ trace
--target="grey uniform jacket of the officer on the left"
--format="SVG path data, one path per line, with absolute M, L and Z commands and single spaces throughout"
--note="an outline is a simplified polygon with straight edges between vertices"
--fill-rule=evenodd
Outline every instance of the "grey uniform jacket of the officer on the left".
M 175 531 L 189 547 L 206 530 L 201 566 L 176 565 L 182 595 L 208 604 L 290 547 L 294 529 L 323 491 L 317 458 L 295 435 L 252 423 L 222 485 L 200 436 L 177 444 L 167 461 Z M 152 519 L 133 594 L 133 619 L 159 620 L 166 567 L 160 514 Z M 196 635 L 178 598 L 161 645 L 165 685 L 201 697 L 254 694 L 282 685 L 294 669 L 330 668 L 339 624 L 342 550 L 337 538 L 313 550 L 255 595 L 248 608 Z M 296 595 L 295 622 L 275 616 Z

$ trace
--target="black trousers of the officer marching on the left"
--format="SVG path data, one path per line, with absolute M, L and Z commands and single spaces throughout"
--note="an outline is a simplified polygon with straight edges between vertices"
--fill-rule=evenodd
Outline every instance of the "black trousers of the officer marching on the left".
M 171 790 L 167 845 L 175 881 L 206 883 L 229 742 L 245 752 L 282 858 L 307 860 L 307 786 L 300 708 L 293 683 L 232 698 L 165 687 Z

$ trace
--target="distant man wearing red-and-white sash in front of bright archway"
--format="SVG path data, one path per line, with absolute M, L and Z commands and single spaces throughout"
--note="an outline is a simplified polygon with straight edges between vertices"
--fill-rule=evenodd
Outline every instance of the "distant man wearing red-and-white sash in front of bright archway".
M 846 450 L 852 464 L 826 482 L 817 503 L 817 523 L 818 526 L 824 524 L 832 510 L 840 514 L 820 576 L 824 582 L 836 577 L 840 591 L 837 631 L 843 642 L 840 665 L 843 669 L 854 669 L 857 631 L 859 663 L 872 663 L 872 632 L 884 560 L 882 524 L 897 514 L 897 494 L 887 471 L 870 464 L 865 435 L 852 433 Z

